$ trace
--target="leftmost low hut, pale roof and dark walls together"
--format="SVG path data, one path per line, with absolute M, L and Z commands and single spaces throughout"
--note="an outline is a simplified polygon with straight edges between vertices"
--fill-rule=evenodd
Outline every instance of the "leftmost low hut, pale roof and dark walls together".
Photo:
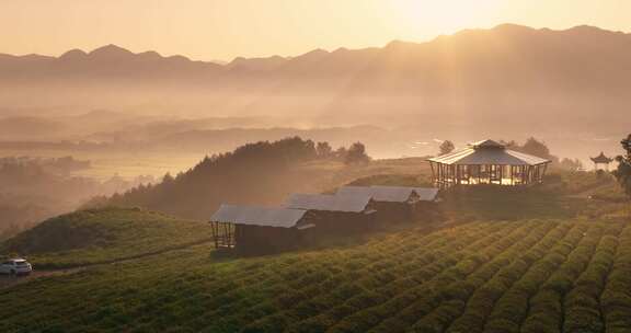
M 210 225 L 216 248 L 255 252 L 297 245 L 301 232 L 314 227 L 311 217 L 300 209 L 221 205 Z

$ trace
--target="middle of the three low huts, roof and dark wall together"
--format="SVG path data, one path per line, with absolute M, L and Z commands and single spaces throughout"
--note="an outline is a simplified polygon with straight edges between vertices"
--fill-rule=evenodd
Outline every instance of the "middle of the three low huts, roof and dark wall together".
M 375 223 L 375 203 L 370 196 L 295 193 L 285 206 L 311 211 L 318 232 L 366 230 Z

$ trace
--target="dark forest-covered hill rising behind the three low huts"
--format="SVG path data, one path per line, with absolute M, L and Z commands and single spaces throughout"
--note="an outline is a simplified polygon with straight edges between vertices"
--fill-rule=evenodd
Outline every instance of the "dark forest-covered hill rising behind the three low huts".
M 353 147 L 333 150 L 326 142 L 298 137 L 248 143 L 206 157 L 186 172 L 167 174 L 158 184 L 96 197 L 87 207 L 139 206 L 206 220 L 220 204 L 277 205 L 290 193 L 322 190 L 344 163 L 354 163 L 347 160 Z M 367 158 L 357 152 L 359 161 Z

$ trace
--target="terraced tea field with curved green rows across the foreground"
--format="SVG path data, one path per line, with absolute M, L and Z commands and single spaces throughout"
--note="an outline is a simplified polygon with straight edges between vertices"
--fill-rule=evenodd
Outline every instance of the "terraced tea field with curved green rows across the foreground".
M 0 291 L 11 300 L 0 331 L 631 332 L 622 222 L 472 222 L 240 260 L 209 251 Z

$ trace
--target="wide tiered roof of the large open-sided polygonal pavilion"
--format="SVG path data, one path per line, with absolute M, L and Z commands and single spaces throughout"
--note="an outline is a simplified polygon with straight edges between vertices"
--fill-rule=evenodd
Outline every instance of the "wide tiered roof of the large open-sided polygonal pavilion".
M 432 162 L 457 165 L 539 165 L 550 160 L 506 149 L 493 140 L 483 140 L 469 147 L 428 159 Z

